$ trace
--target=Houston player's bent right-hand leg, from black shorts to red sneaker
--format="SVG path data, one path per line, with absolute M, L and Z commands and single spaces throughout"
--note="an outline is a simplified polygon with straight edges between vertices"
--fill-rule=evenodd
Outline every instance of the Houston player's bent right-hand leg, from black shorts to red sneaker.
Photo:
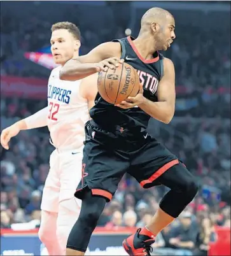
M 176 156 L 154 139 L 134 157 L 129 173 L 144 188 L 155 185 L 171 188 L 160 202 L 150 224 L 123 241 L 123 247 L 129 255 L 149 255 L 155 236 L 192 201 L 198 186 L 193 175 Z

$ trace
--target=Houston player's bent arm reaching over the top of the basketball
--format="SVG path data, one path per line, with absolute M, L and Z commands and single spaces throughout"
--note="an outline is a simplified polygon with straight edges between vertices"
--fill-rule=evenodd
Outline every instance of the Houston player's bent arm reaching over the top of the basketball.
M 76 81 L 99 71 L 114 69 L 122 63 L 120 43 L 107 42 L 98 45 L 87 55 L 71 59 L 60 69 L 61 80 Z

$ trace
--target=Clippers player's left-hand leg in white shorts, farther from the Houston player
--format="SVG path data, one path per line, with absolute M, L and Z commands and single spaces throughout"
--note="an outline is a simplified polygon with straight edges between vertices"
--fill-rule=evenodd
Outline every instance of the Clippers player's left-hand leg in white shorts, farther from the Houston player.
M 60 246 L 57 240 L 57 216 L 59 210 L 59 157 L 55 150 L 50 155 L 50 171 L 43 188 L 41 202 L 41 224 L 39 239 L 46 246 L 49 255 L 59 255 Z

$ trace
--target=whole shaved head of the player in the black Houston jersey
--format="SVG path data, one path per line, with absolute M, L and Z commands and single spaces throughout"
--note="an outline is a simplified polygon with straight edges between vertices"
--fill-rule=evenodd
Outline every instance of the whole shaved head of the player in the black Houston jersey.
M 176 38 L 174 29 L 174 17 L 162 8 L 151 8 L 141 19 L 141 33 L 151 36 L 156 50 L 165 51 L 169 48 Z

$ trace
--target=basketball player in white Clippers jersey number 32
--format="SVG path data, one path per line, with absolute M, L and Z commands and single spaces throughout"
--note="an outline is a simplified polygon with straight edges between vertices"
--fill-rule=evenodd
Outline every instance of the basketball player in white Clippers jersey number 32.
M 55 150 L 50 156 L 50 171 L 46 178 L 41 203 L 39 238 L 49 255 L 65 255 L 67 237 L 80 211 L 81 201 L 74 197 L 81 180 L 84 125 L 88 110 L 94 105 L 97 75 L 80 81 L 59 80 L 59 70 L 73 57 L 78 57 L 80 31 L 69 22 L 52 26 L 50 39 L 53 69 L 48 81 L 48 106 L 3 130 L 1 145 L 8 143 L 21 130 L 48 126 Z

